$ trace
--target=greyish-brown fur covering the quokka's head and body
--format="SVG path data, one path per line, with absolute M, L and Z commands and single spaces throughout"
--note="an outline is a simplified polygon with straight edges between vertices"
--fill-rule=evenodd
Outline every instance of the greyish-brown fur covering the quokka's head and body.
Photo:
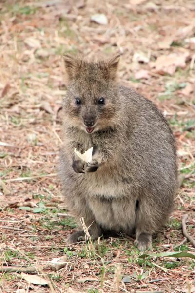
M 84 217 L 96 239 L 105 231 L 136 232 L 138 248 L 151 245 L 152 234 L 166 222 L 177 190 L 175 139 L 167 121 L 148 99 L 119 85 L 119 56 L 87 62 L 64 56 L 69 85 L 63 106 L 60 177 L 69 209 Z M 82 104 L 76 105 L 80 98 Z M 105 105 L 98 99 L 105 98 Z M 84 120 L 95 128 L 86 132 Z M 84 162 L 74 148 L 94 147 L 93 160 Z M 73 169 L 74 168 L 74 169 Z M 68 239 L 83 239 L 77 232 Z

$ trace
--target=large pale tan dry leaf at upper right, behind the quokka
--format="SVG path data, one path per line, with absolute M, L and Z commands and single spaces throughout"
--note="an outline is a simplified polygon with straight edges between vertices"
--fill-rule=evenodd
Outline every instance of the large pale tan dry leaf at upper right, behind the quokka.
M 156 59 L 155 62 L 150 62 L 149 65 L 151 68 L 155 68 L 155 72 L 159 74 L 163 75 L 165 73 L 168 73 L 172 75 L 178 67 L 185 68 L 186 59 L 188 56 L 188 52 L 161 55 Z

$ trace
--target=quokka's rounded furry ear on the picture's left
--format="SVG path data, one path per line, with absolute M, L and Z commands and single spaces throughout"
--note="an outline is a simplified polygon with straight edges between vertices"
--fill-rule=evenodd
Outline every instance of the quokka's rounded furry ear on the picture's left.
M 68 75 L 68 80 L 70 81 L 78 74 L 82 61 L 81 59 L 70 54 L 65 54 L 63 56 L 63 60 L 65 64 L 65 70 Z

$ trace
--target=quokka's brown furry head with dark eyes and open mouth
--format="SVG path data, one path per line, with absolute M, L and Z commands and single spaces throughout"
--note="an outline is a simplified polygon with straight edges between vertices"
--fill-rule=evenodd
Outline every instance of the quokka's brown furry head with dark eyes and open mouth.
M 99 62 L 64 56 L 68 77 L 64 114 L 69 124 L 93 133 L 116 123 L 118 94 L 115 78 L 118 62 L 119 55 Z

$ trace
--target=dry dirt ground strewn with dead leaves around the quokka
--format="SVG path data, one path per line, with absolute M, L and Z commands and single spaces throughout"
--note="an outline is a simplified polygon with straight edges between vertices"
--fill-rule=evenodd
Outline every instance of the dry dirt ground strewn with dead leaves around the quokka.
M 91 21 L 97 13 L 107 24 Z M 193 0 L 0 1 L 0 293 L 195 292 L 193 258 L 141 259 L 122 235 L 67 247 L 77 225 L 62 215 L 68 211 L 56 176 L 62 55 L 120 52 L 120 82 L 156 103 L 178 146 L 176 209 L 153 253 L 195 255 L 181 229 L 188 215 L 195 238 L 194 17 Z M 52 269 L 62 256 L 62 268 Z M 28 269 L 32 282 L 39 275 L 48 285 L 22 278 Z

